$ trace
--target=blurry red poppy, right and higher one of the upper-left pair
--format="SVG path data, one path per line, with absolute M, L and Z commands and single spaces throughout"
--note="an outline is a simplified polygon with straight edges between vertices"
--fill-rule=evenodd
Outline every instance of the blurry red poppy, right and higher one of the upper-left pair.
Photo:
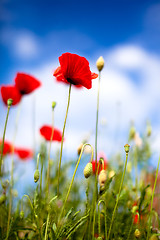
M 40 87 L 41 83 L 36 78 L 28 74 L 17 73 L 17 76 L 15 78 L 15 85 L 20 94 L 25 95 L 33 92 L 36 88 Z

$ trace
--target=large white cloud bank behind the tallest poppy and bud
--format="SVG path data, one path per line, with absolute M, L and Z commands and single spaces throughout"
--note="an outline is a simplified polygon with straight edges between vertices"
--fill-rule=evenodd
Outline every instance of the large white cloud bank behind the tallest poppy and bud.
M 157 113 L 157 103 L 160 102 L 160 58 L 136 46 L 117 46 L 109 53 L 104 51 L 105 68 L 102 71 L 100 88 L 99 119 L 107 119 L 107 125 L 99 124 L 98 149 L 113 152 L 117 147 L 126 143 L 127 130 L 130 121 L 134 120 L 138 131 L 145 129 L 147 119 L 152 119 Z M 55 108 L 55 126 L 62 130 L 67 106 L 68 87 L 57 83 L 52 76 L 58 61 L 50 62 L 31 69 L 31 73 L 42 81 L 42 87 L 35 92 L 36 98 L 36 134 L 37 142 L 41 141 L 39 128 L 43 124 L 51 124 L 51 103 L 57 102 Z M 95 70 L 95 63 L 90 63 L 91 70 Z M 141 72 L 137 83 L 136 77 L 129 71 Z M 94 146 L 97 80 L 93 80 L 90 90 L 72 87 L 71 103 L 67 119 L 64 144 L 68 153 L 75 152 L 85 133 L 92 132 L 90 142 Z M 30 99 L 30 100 L 29 100 Z M 31 96 L 23 101 L 23 116 L 19 125 L 21 132 L 25 126 L 25 144 L 32 145 L 32 105 Z M 30 120 L 29 120 L 30 119 Z M 11 127 L 11 126 L 10 126 Z M 20 130 L 21 129 L 21 130 Z M 154 132 L 154 126 L 153 126 Z M 118 138 L 117 138 L 118 137 Z M 21 137 L 17 143 L 23 144 Z M 27 143 L 28 141 L 28 143 Z M 123 151 L 123 149 L 122 149 Z

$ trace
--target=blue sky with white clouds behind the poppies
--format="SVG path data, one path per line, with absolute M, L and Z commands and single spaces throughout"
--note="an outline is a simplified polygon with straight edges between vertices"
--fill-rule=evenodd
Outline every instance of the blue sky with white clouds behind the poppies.
M 52 73 L 59 65 L 58 56 L 72 52 L 86 57 L 95 72 L 97 58 L 102 55 L 105 59 L 99 150 L 107 155 L 113 153 L 115 141 L 117 148 L 126 143 L 131 120 L 141 134 L 148 119 L 153 125 L 153 145 L 157 149 L 160 143 L 159 12 L 160 1 L 154 0 L 1 0 L 0 83 L 12 83 L 17 71 L 30 73 L 42 81 L 43 87 L 35 93 L 37 143 L 41 141 L 39 127 L 51 123 L 53 100 L 58 103 L 55 125 L 62 129 L 68 88 L 57 84 Z M 96 80 L 89 91 L 73 88 L 66 151 L 76 152 L 78 143 L 89 132 L 93 133 L 90 141 L 94 144 L 96 91 Z M 33 146 L 32 97 L 23 100 L 16 140 L 21 146 Z M 0 109 L 4 112 L 0 116 L 2 132 L 6 113 L 2 102 Z M 16 111 L 14 108 L 11 112 L 11 119 Z M 13 135 L 13 121 L 8 123 L 9 140 Z

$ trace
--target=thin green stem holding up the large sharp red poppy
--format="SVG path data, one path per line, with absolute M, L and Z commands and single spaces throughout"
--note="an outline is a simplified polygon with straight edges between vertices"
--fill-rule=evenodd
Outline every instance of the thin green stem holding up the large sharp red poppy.
M 61 161 L 62 161 L 63 139 L 64 139 L 64 131 L 65 131 L 65 127 L 66 127 L 68 109 L 69 109 L 69 104 L 70 104 L 70 97 L 71 97 L 71 83 L 69 85 L 68 104 L 67 104 L 67 110 L 66 110 L 66 115 L 65 115 L 64 125 L 63 125 L 63 132 L 62 132 L 61 152 L 60 152 L 59 166 L 58 166 L 57 196 L 59 196 L 59 181 L 60 181 L 60 171 L 61 171 Z

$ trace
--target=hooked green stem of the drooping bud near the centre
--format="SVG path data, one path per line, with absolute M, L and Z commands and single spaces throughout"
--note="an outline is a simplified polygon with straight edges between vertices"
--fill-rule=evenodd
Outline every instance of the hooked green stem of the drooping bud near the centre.
M 80 153 L 80 156 L 79 156 L 79 159 L 78 159 L 76 168 L 75 168 L 75 170 L 74 170 L 71 183 L 70 183 L 70 185 L 69 185 L 69 189 L 68 189 L 68 192 L 67 192 L 67 195 L 66 195 L 64 204 L 63 204 L 63 208 L 62 208 L 61 214 L 60 214 L 60 219 L 61 219 L 61 217 L 63 216 L 63 212 L 64 212 L 64 209 L 65 209 L 65 206 L 66 206 L 66 202 L 67 202 L 67 200 L 68 200 L 68 197 L 69 197 L 69 194 L 70 194 L 72 185 L 73 185 L 74 177 L 75 177 L 75 175 L 76 175 L 77 168 L 78 168 L 78 166 L 79 166 L 79 163 L 80 163 L 80 160 L 81 160 L 81 157 L 82 157 L 82 153 L 83 153 L 83 151 L 84 151 L 85 146 L 87 146 L 87 145 L 90 146 L 91 149 L 92 149 L 91 162 L 92 162 L 92 160 L 93 160 L 93 147 L 92 147 L 89 143 L 85 143 L 85 144 L 83 145 L 82 149 L 81 149 L 81 153 Z

